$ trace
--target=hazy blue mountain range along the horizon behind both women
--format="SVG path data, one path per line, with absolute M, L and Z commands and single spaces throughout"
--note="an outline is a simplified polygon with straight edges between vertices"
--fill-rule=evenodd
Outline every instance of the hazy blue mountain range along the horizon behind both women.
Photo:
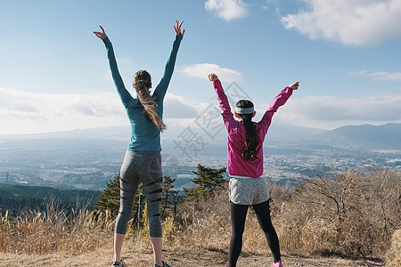
M 180 141 L 184 127 L 168 128 L 166 133 L 161 134 L 162 147 L 168 153 L 175 153 L 176 143 Z M 207 132 L 195 126 L 191 127 L 193 134 L 201 137 L 202 141 L 211 146 L 213 150 L 223 149 L 226 146 L 227 134 L 222 129 L 213 138 Z M 186 133 L 188 134 L 188 133 Z M 194 135 L 195 136 L 195 135 Z M 188 136 L 186 136 L 187 138 Z M 102 146 L 113 146 L 114 148 L 127 148 L 130 140 L 130 127 L 128 125 L 99 127 L 91 129 L 75 129 L 66 132 L 45 134 L 14 134 L 0 135 L 1 143 L 11 143 L 17 148 L 29 146 L 60 146 L 67 150 L 78 149 L 84 146 L 94 150 Z M 331 131 L 315 129 L 298 125 L 280 124 L 272 125 L 266 136 L 266 145 L 275 145 L 280 142 L 291 142 L 296 146 L 332 146 L 341 149 L 386 149 L 401 150 L 401 124 L 389 123 L 386 125 L 347 125 Z M 20 145 L 19 145 L 20 144 Z M 75 146 L 77 148 L 72 148 Z M 114 151 L 118 151 L 114 150 Z M 208 151 L 209 153 L 210 151 Z M 225 153 L 225 150 L 223 151 Z M 217 152 L 217 154 L 220 154 Z

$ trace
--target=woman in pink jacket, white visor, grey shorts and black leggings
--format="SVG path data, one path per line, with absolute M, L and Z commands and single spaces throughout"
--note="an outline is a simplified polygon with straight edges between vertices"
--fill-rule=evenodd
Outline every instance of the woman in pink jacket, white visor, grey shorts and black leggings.
M 230 104 L 216 74 L 209 74 L 213 82 L 221 115 L 228 132 L 228 174 L 230 175 L 230 210 L 232 235 L 228 267 L 236 265 L 242 248 L 242 233 L 248 207 L 252 206 L 258 217 L 260 227 L 265 232 L 267 244 L 272 250 L 272 267 L 282 267 L 280 246 L 270 218 L 269 192 L 263 174 L 263 142 L 274 112 L 277 111 L 297 90 L 299 82 L 289 85 L 274 98 L 258 123 L 252 122 L 255 116 L 253 103 L 238 101 L 235 105 L 234 119 Z

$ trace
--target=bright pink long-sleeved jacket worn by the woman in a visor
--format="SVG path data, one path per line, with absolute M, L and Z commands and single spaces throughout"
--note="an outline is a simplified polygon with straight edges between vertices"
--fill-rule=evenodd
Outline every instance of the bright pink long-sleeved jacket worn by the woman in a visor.
M 233 118 L 230 104 L 220 81 L 213 82 L 215 87 L 218 103 L 221 109 L 221 115 L 225 122 L 225 127 L 228 132 L 228 174 L 246 177 L 260 177 L 263 174 L 263 142 L 267 134 L 267 129 L 272 122 L 274 112 L 277 111 L 285 102 L 290 98 L 292 89 L 285 87 L 282 89 L 274 100 L 270 103 L 269 108 L 266 110 L 265 115 L 258 123 L 254 123 L 258 133 L 258 148 L 257 157 L 254 161 L 247 161 L 241 157 L 242 151 L 245 146 L 246 130 L 241 122 Z

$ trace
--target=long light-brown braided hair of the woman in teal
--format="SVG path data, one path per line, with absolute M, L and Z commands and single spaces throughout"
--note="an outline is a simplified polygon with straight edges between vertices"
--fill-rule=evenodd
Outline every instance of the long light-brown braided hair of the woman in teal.
M 151 88 L 151 75 L 146 70 L 139 70 L 134 75 L 134 87 L 138 100 L 143 105 L 143 116 L 153 122 L 160 132 L 166 130 L 167 126 L 158 115 L 157 104 L 149 93 Z

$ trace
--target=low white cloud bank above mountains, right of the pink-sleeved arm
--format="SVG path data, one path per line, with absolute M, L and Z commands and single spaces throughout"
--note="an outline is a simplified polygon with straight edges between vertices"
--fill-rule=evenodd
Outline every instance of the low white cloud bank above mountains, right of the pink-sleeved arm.
M 290 99 L 278 114 L 294 124 L 331 129 L 349 124 L 401 122 L 401 93 L 355 99 L 333 96 Z

